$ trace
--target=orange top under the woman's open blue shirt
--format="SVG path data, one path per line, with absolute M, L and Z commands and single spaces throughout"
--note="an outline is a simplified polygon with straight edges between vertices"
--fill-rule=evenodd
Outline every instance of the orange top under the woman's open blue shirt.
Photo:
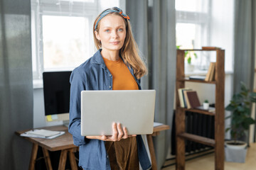
M 107 60 L 104 57 L 102 58 L 107 66 L 107 69 L 109 69 L 110 73 L 112 74 L 113 90 L 139 90 L 136 80 L 120 57 L 117 61 Z

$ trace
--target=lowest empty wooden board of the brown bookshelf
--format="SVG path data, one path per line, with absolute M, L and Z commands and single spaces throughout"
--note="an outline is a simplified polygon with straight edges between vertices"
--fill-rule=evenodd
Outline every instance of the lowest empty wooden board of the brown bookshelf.
M 178 134 L 178 136 L 183 137 L 186 140 L 192 140 L 194 142 L 198 142 L 203 145 L 209 145 L 209 146 L 215 147 L 215 140 L 207 138 L 207 137 L 201 137 L 201 136 L 193 135 L 193 134 L 186 133 L 186 132 Z

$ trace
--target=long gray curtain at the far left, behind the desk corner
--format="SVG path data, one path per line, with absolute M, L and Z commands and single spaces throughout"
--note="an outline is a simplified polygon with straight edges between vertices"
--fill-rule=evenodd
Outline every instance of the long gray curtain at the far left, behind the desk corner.
M 28 169 L 31 143 L 14 135 L 33 128 L 29 0 L 0 1 L 0 169 Z

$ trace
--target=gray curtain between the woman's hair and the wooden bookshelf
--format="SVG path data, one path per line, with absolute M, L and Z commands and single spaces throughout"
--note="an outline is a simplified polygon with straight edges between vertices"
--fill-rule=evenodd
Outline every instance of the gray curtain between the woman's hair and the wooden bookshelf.
M 155 121 L 172 125 L 176 81 L 175 1 L 127 1 L 126 12 L 149 74 L 142 78 L 142 89 L 156 89 Z M 158 169 L 166 160 L 171 130 L 154 138 Z

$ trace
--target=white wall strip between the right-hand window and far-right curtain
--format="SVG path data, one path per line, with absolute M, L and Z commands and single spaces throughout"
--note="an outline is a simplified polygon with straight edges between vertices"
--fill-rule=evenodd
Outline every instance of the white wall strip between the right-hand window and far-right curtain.
M 225 50 L 225 106 L 233 96 L 233 47 L 234 47 L 234 0 L 212 0 L 210 46 L 221 47 Z M 225 111 L 225 116 L 230 115 Z M 230 125 L 230 120 L 225 120 L 225 127 Z M 230 132 L 225 133 L 225 138 L 230 138 Z

